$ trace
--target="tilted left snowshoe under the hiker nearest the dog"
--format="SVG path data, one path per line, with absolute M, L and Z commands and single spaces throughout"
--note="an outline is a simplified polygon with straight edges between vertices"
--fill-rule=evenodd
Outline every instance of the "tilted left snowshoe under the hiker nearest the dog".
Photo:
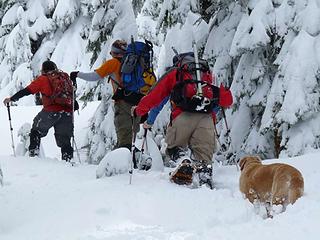
M 170 173 L 170 181 L 178 185 L 191 185 L 194 168 L 190 159 L 184 159 L 178 167 Z

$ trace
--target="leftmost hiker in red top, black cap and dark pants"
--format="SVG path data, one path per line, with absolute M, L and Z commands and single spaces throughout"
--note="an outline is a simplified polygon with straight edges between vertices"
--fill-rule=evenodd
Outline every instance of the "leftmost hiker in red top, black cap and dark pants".
M 30 132 L 29 156 L 39 155 L 40 139 L 45 137 L 51 127 L 58 147 L 61 148 L 61 158 L 70 161 L 73 158 L 71 137 L 73 136 L 73 84 L 67 73 L 58 70 L 52 61 L 42 64 L 41 75 L 34 79 L 26 88 L 12 97 L 3 100 L 5 105 L 20 98 L 41 93 L 43 109 L 33 119 Z M 75 105 L 78 108 L 78 105 Z

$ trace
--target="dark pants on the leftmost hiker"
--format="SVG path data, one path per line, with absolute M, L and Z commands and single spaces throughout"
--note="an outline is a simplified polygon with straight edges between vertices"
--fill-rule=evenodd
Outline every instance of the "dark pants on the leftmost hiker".
M 54 136 L 57 146 L 61 148 L 63 160 L 73 158 L 71 137 L 73 136 L 72 113 L 67 112 L 46 112 L 42 110 L 33 119 L 30 132 L 30 150 L 39 150 L 40 139 L 48 134 L 51 127 L 54 127 Z

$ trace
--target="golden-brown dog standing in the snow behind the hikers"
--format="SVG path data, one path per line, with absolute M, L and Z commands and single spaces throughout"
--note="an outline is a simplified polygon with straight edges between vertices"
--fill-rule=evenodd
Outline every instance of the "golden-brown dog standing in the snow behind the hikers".
M 303 177 L 288 164 L 263 165 L 259 157 L 247 156 L 240 160 L 239 166 L 240 191 L 251 203 L 265 204 L 268 217 L 272 217 L 268 206 L 282 205 L 284 211 L 303 195 Z

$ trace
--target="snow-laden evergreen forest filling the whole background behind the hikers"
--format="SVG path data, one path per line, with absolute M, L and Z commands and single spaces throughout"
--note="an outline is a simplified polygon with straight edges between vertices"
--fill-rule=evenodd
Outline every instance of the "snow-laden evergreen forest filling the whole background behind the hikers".
M 234 95 L 230 133 L 218 115 L 218 155 L 303 154 L 320 145 L 316 9 L 316 0 L 3 0 L 0 96 L 27 85 L 47 59 L 67 72 L 92 71 L 110 57 L 115 39 L 151 40 L 158 77 L 172 64 L 172 47 L 192 51 L 196 42 L 216 84 Z M 86 140 L 88 161 L 98 163 L 116 142 L 111 87 L 79 81 L 78 94 L 101 100 Z M 155 123 L 158 143 L 169 114 L 166 106 Z

